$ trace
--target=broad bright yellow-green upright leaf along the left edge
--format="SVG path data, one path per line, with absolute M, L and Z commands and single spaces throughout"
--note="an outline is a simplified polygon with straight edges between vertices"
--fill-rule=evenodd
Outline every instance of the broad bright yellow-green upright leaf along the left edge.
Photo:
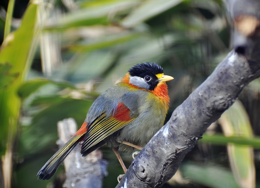
M 21 105 L 17 89 L 23 81 L 26 68 L 30 67 L 34 52 L 37 6 L 33 2 L 30 3 L 20 27 L 5 38 L 0 48 L 0 62 L 10 65 L 8 75 L 17 75 L 16 79 L 12 80 L 12 84 L 0 92 L 0 156 L 5 153 L 7 143 L 11 146 L 16 136 Z M 2 68 L 6 70 L 8 67 Z M 5 83 L 2 79 L 5 78 L 2 77 L 0 82 Z M 10 77 L 8 79 L 10 81 Z

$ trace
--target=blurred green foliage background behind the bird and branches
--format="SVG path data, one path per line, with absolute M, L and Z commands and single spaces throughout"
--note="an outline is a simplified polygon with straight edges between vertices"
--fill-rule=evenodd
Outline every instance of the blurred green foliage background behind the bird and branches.
M 80 127 L 131 66 L 157 63 L 174 77 L 168 121 L 232 48 L 220 0 L 2 0 L 0 8 L 0 178 L 14 188 L 61 187 L 63 166 L 51 180 L 36 176 L 58 149 L 57 122 L 72 117 Z M 259 93 L 255 80 L 163 187 L 260 187 Z M 101 150 L 103 187 L 112 188 L 123 171 L 111 148 Z M 122 157 L 128 167 L 132 156 Z

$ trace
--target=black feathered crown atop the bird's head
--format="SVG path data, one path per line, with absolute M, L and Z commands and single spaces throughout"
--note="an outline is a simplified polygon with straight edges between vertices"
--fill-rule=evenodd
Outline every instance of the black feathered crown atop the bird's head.
M 155 75 L 163 73 L 163 68 L 156 63 L 140 63 L 136 64 L 128 70 L 131 76 L 144 77 L 145 75 Z

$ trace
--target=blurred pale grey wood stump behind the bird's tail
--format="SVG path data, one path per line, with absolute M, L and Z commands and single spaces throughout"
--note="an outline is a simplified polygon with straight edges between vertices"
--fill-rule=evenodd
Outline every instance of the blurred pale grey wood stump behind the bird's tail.
M 58 145 L 63 146 L 76 131 L 77 124 L 74 119 L 69 118 L 59 121 Z M 107 162 L 102 159 L 100 150 L 95 150 L 83 158 L 78 144 L 65 158 L 63 164 L 66 171 L 66 180 L 63 187 L 102 188 L 103 177 L 107 175 Z

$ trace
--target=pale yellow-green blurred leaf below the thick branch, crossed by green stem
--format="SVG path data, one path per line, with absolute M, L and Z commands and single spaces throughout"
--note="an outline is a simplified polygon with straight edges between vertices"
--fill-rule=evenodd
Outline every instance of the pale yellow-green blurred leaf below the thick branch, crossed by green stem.
M 219 122 L 225 136 L 253 137 L 249 117 L 244 106 L 238 100 L 222 114 Z M 237 183 L 241 187 L 254 187 L 255 163 L 252 147 L 230 143 L 227 145 L 227 152 Z

